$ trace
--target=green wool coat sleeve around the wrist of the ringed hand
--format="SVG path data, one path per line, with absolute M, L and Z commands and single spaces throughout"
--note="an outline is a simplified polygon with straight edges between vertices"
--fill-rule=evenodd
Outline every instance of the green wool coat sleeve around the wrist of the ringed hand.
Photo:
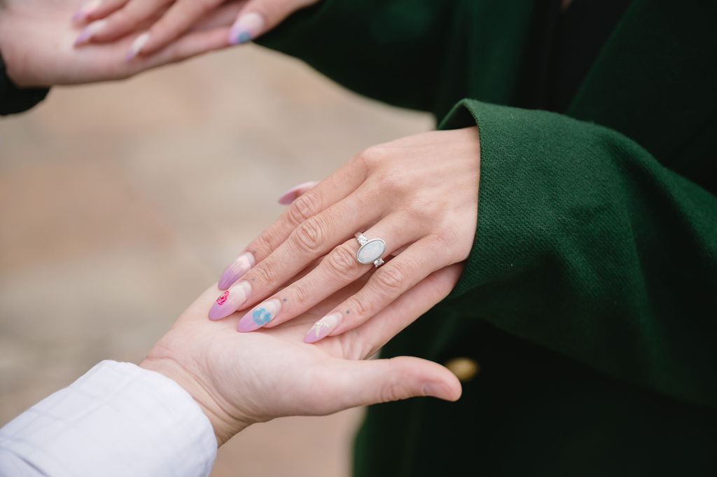
M 717 198 L 564 115 L 459 103 L 478 228 L 447 303 L 597 369 L 717 405 Z

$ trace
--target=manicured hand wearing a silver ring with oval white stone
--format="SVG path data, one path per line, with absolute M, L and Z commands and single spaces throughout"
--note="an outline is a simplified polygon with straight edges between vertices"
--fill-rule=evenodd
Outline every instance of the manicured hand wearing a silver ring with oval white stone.
M 367 149 L 298 197 L 224 270 L 219 288 L 241 280 L 212 306 L 209 318 L 224 318 L 261 301 L 239 321 L 239 331 L 276 326 L 370 273 L 362 288 L 315 323 L 320 332 L 306 339 L 361 326 L 430 273 L 467 258 L 475 235 L 479 174 L 475 127 L 417 134 Z M 353 235 L 358 231 L 385 240 L 381 268 L 356 260 L 359 243 Z M 322 257 L 314 270 L 276 293 Z

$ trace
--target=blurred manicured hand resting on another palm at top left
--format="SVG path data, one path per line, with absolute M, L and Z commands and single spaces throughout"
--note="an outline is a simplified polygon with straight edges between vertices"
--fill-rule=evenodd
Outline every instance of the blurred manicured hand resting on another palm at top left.
M 80 42 L 112 42 L 153 22 L 133 42 L 128 57 L 151 55 L 166 47 L 227 0 L 89 0 L 75 14 L 77 21 L 92 22 Z M 249 42 L 280 24 L 287 16 L 318 0 L 242 0 L 236 22 L 227 32 L 227 44 Z

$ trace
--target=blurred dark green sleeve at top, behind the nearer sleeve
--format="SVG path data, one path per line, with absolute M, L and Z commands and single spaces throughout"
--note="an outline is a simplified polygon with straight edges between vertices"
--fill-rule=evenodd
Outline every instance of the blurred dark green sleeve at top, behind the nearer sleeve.
M 535 3 L 321 0 L 258 43 L 304 60 L 356 93 L 441 117 L 468 82 L 483 92 L 481 100 L 513 99 L 518 77 L 508 72 L 523 60 Z

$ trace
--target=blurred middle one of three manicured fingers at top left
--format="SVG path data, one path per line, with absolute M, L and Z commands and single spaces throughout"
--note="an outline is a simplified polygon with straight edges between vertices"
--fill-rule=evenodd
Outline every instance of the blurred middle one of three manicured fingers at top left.
M 138 25 L 146 22 L 158 11 L 166 9 L 172 0 L 134 0 L 115 11 L 106 18 L 92 22 L 80 33 L 77 42 L 110 42 L 133 32 Z M 146 37 L 145 37 L 146 38 Z M 146 42 L 146 40 L 144 40 Z M 133 48 L 141 48 L 141 44 L 133 44 Z

